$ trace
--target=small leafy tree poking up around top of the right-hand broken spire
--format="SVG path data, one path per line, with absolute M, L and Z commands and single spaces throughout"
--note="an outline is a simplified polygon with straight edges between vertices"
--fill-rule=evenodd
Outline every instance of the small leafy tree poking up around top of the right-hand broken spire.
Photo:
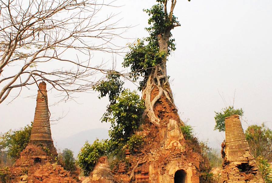
M 215 112 L 215 127 L 214 130 L 219 130 L 219 132 L 225 131 L 225 118 L 230 117 L 232 115 L 240 115 L 243 116 L 244 111 L 242 108 L 234 109 L 233 106 L 225 107 L 220 112 Z

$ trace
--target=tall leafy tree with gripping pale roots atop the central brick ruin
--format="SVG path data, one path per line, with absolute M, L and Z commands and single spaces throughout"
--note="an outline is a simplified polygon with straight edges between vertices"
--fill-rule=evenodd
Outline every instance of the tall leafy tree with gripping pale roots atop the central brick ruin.
M 130 46 L 123 66 L 130 67 L 131 77 L 140 81 L 142 98 L 145 101 L 144 117 L 156 126 L 168 123 L 170 118 L 181 121 L 174 104 L 169 85 L 166 62 L 171 51 L 175 50 L 175 39 L 171 30 L 180 26 L 173 15 L 176 0 L 157 0 L 151 9 L 144 10 L 150 18 L 146 28 L 150 36 L 138 40 Z M 168 3 L 169 6 L 168 6 Z M 168 115 L 158 114 L 159 108 L 168 109 Z

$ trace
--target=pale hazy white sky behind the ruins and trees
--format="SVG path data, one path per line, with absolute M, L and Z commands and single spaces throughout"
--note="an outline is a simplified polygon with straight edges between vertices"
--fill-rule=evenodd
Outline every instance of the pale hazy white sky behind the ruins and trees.
M 124 37 L 115 40 L 126 45 L 136 38 L 148 36 L 148 16 L 143 9 L 155 0 L 117 0 L 119 8 L 104 10 L 120 13 L 120 25 L 133 26 L 124 30 Z M 265 123 L 272 129 L 272 1 L 263 0 L 178 0 L 174 14 L 181 26 L 172 31 L 176 51 L 168 59 L 167 70 L 175 104 L 183 121 L 192 125 L 196 136 L 220 148 L 224 133 L 214 131 L 214 111 L 234 103 L 243 108 L 243 129 Z M 69 55 L 69 53 L 68 53 Z M 97 58 L 109 59 L 97 53 Z M 120 68 L 122 56 L 117 56 Z M 126 86 L 136 89 L 126 82 Z M 37 89 L 23 90 L 12 103 L 11 95 L 0 104 L 0 132 L 15 130 L 33 121 Z M 53 118 L 52 137 L 57 143 L 63 138 L 90 129 L 109 129 L 100 122 L 108 104 L 107 97 L 78 93 L 76 101 L 50 106 Z M 54 91 L 48 93 L 49 105 L 58 101 Z M 90 134 L 91 136 L 92 134 Z

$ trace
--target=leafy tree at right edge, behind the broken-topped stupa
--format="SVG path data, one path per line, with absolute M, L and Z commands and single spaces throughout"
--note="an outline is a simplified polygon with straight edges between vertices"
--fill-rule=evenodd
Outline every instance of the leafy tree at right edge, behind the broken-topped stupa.
M 251 125 L 246 130 L 246 139 L 251 152 L 257 157 L 272 161 L 272 130 L 262 125 Z

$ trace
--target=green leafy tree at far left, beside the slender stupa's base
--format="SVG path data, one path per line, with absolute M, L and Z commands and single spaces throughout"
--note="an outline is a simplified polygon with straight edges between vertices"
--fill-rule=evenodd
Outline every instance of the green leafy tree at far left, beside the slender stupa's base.
M 5 133 L 1 143 L 4 144 L 5 148 L 7 148 L 8 155 L 11 158 L 18 158 L 20 152 L 25 149 L 30 139 L 32 124 L 33 123 L 31 123 L 31 125 L 26 125 L 24 128 L 18 131 L 10 130 L 9 132 Z

